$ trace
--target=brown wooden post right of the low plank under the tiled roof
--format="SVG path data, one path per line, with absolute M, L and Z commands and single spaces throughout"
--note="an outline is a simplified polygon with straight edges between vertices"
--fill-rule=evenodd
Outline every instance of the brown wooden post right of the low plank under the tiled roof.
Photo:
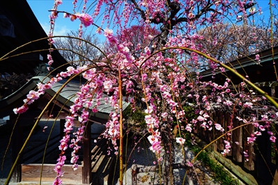
M 82 184 L 90 184 L 91 181 L 91 123 L 85 127 L 83 135 L 83 168 Z

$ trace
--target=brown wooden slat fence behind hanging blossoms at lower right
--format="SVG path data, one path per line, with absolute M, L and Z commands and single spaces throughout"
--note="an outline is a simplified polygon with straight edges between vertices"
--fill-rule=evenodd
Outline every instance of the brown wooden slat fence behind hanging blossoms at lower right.
M 206 143 L 211 143 L 221 136 L 211 144 L 213 152 L 218 155 L 222 155 L 221 152 L 225 149 L 224 140 L 229 141 L 231 148 L 226 155 L 226 158 L 229 159 L 227 160 L 228 164 L 232 162 L 233 166 L 240 166 L 245 173 L 251 174 L 256 179 L 257 184 L 272 184 L 277 168 L 277 144 L 270 142 L 270 135 L 267 131 L 263 131 L 261 136 L 257 136 L 255 143 L 248 143 L 247 137 L 256 131 L 254 125 L 244 125 L 243 121 L 238 121 L 237 118 L 231 120 L 230 114 L 224 112 L 215 113 L 212 119 L 215 123 L 222 125 L 226 132 L 230 130 L 229 126 L 233 128 L 243 126 L 221 136 L 224 132 L 216 130 L 215 127 L 209 131 L 201 127 L 202 123 L 199 123 L 194 134 Z M 276 183 L 278 184 L 278 182 Z

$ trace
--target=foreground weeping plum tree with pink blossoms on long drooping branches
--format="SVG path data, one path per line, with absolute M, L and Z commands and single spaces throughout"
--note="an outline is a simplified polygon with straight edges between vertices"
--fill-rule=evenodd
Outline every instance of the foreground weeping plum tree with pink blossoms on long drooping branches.
M 113 46 L 113 50 L 104 54 L 104 58 L 100 61 L 84 56 L 86 60 L 90 60 L 90 64 L 69 67 L 67 71 L 56 74 L 56 77 L 51 78 L 49 82 L 40 83 L 38 91 L 31 91 L 24 100 L 25 104 L 14 109 L 15 114 L 26 112 L 28 105 L 63 78 L 82 74 L 83 78 L 88 81 L 81 85 L 80 91 L 76 93 L 74 105 L 70 109 L 71 113 L 66 117 L 65 136 L 60 141 L 61 152 L 54 169 L 57 173 L 54 184 L 62 183 L 60 177 L 63 175 L 63 165 L 66 159 L 64 153 L 65 150 L 69 150 L 67 148 L 72 148 L 72 168 L 74 170 L 78 168 L 76 164 L 77 152 L 80 148 L 78 141 L 81 141 L 85 123 L 88 121 L 88 108 L 92 107 L 92 112 L 98 112 L 98 105 L 104 93 L 110 95 L 108 103 L 114 107 L 115 111 L 110 113 L 103 136 L 111 140 L 115 154 L 119 155 L 120 184 L 123 184 L 124 173 L 122 160 L 123 94 L 128 97 L 126 100 L 129 100 L 133 109 L 136 107 L 136 97 L 142 97 L 141 100 L 147 107 L 145 122 L 149 133 L 147 135 L 149 149 L 156 156 L 154 164 L 163 169 L 161 171 L 163 184 L 175 182 L 172 175 L 175 162 L 173 149 L 175 143 L 183 146 L 185 142 L 181 134 L 182 127 L 185 132 L 192 132 L 197 124 L 200 124 L 204 130 L 227 133 L 223 154 L 230 151 L 229 132 L 234 128 L 233 123 L 231 121 L 227 127 L 222 127 L 212 118 L 215 112 L 227 112 L 232 118 L 243 121 L 245 125 L 253 124 L 257 131 L 250 133 L 247 143 L 253 143 L 263 130 L 268 130 L 270 142 L 275 142 L 276 137 L 270 127 L 277 123 L 277 103 L 250 80 L 219 62 L 216 55 L 207 52 L 206 44 L 202 44 L 206 43 L 206 35 L 202 35 L 204 34 L 202 29 L 224 24 L 229 19 L 239 19 L 239 15 L 243 19 L 249 17 L 252 12 L 249 13 L 246 10 L 256 6 L 254 1 L 99 0 L 92 2 L 90 6 L 89 1 L 82 1 L 81 13 L 75 12 L 78 3 L 76 0 L 73 1 L 73 12 L 59 10 L 61 3 L 61 0 L 54 1 L 54 7 L 51 10 L 49 44 L 54 43 L 51 34 L 54 29 L 54 20 L 58 18 L 58 14 L 64 13 L 64 17 L 81 22 L 80 33 L 84 26 L 97 26 L 96 32 L 104 34 L 107 42 Z M 87 11 L 87 7 L 90 7 L 88 8 L 90 11 Z M 101 12 L 104 7 L 106 11 Z M 101 24 L 94 23 L 101 16 L 103 17 Z M 144 40 L 151 42 L 148 43 L 149 46 L 146 45 L 144 49 L 138 50 L 140 53 L 136 55 L 133 51 L 136 49 L 131 47 L 131 41 L 127 42 L 120 37 L 115 37 L 111 29 L 117 30 L 118 35 L 125 35 L 128 33 L 126 32 L 129 29 L 128 26 L 135 23 L 140 23 L 144 30 L 149 28 L 157 30 L 155 34 L 145 31 L 140 35 Z M 105 24 L 106 28 L 103 28 Z M 248 24 L 247 19 L 245 19 L 245 24 Z M 234 28 L 237 29 L 240 26 Z M 215 29 L 215 31 L 218 30 Z M 136 35 L 136 33 L 132 34 Z M 79 34 L 79 39 L 81 38 L 82 34 Z M 247 39 L 250 38 L 247 37 Z M 240 44 L 242 41 L 240 37 L 236 37 L 234 42 Z M 55 62 L 51 58 L 51 50 L 48 58 L 49 64 Z M 242 79 L 239 88 L 234 89 L 228 78 L 220 85 L 211 81 L 201 81 L 199 72 L 204 64 L 210 65 L 214 70 L 226 69 L 235 73 Z M 184 105 L 195 110 L 196 118 L 188 118 L 183 109 Z M 81 125 L 79 130 L 74 132 L 74 139 L 70 139 L 74 118 L 79 118 Z M 173 128 L 177 128 L 176 133 L 172 132 Z M 118 140 L 120 140 L 119 145 Z M 194 165 L 194 161 L 186 165 L 190 168 Z

